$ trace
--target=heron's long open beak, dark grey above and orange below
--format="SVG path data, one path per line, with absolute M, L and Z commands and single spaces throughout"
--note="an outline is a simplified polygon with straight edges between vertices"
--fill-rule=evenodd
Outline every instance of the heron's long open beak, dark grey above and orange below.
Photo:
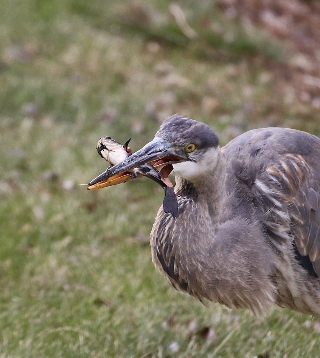
M 113 165 L 97 178 L 93 179 L 88 185 L 88 190 L 110 187 L 132 179 L 132 171 L 139 165 L 149 163 L 160 170 L 164 166 L 172 163 L 178 163 L 188 160 L 183 149 L 172 146 L 171 143 L 159 137 L 154 139 L 138 150 L 136 153 L 128 156 L 122 162 Z M 171 170 L 169 170 L 170 172 Z M 136 175 L 142 178 L 141 174 Z

